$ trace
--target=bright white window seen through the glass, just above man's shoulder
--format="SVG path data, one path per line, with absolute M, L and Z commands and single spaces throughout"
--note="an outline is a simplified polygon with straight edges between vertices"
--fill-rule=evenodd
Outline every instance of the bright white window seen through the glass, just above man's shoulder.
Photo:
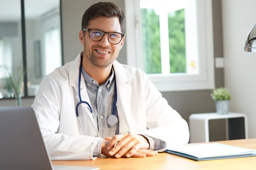
M 51 29 L 44 35 L 45 42 L 45 75 L 50 74 L 61 64 L 61 40 L 59 29 Z M 45 76 L 44 75 L 44 76 Z

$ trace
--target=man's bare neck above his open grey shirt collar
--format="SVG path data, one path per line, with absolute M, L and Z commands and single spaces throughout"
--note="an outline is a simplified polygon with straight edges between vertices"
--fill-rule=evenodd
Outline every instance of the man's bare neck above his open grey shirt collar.
M 94 80 L 98 82 L 99 85 L 104 84 L 111 73 L 112 64 L 106 68 L 97 68 L 89 63 L 89 61 L 83 60 L 84 71 Z

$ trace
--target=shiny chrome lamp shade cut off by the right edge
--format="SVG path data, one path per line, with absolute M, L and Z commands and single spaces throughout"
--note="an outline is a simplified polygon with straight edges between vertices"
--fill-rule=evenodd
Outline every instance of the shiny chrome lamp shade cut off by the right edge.
M 244 51 L 256 53 L 256 25 L 251 29 L 247 35 Z

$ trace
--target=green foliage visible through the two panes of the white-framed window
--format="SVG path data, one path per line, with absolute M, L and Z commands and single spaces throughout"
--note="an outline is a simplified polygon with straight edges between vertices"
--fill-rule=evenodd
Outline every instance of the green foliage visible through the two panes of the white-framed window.
M 185 10 L 168 14 L 170 73 L 186 73 Z M 159 16 L 154 9 L 142 9 L 144 71 L 161 73 Z

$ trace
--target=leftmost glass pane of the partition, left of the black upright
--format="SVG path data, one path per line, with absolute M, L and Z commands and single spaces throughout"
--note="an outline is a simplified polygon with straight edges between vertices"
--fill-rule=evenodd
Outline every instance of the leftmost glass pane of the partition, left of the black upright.
M 23 70 L 20 0 L 0 0 L 0 4 L 0 98 L 11 98 L 14 91 L 9 79 L 20 76 L 23 81 L 19 75 Z

